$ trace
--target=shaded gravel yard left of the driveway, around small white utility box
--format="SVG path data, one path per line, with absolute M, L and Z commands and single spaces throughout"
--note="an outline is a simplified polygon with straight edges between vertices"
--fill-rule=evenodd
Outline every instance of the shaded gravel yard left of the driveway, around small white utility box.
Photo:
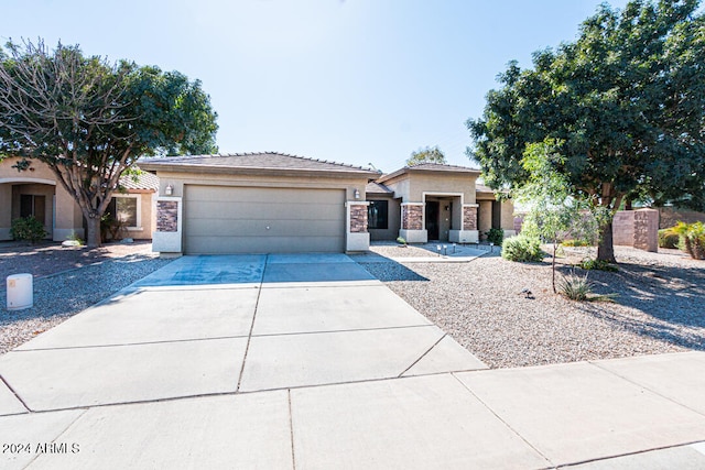
M 144 242 L 94 250 L 0 243 L 0 354 L 170 262 L 155 258 L 151 249 Z M 9 311 L 6 278 L 19 273 L 34 275 L 34 306 Z

